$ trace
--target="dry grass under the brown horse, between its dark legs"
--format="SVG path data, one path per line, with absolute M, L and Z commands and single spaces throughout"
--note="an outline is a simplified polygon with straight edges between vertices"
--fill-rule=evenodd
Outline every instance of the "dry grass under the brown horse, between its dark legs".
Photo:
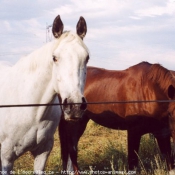
M 78 160 L 82 170 L 89 170 L 89 166 L 101 171 L 127 170 L 127 132 L 90 122 L 79 142 Z M 141 139 L 139 160 L 137 174 L 167 174 L 166 163 L 160 158 L 157 143 L 148 134 Z

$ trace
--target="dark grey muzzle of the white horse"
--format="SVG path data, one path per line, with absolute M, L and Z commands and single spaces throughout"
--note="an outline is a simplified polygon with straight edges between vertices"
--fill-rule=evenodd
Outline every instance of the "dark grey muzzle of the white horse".
M 64 119 L 67 121 L 76 121 L 79 120 L 83 112 L 87 108 L 86 99 L 82 97 L 80 103 L 74 103 L 73 100 L 66 98 L 63 101 L 63 112 L 64 112 Z

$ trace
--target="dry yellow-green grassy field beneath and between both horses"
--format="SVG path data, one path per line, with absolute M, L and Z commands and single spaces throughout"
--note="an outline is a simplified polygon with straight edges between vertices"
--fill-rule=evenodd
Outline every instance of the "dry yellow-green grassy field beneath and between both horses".
M 104 174 L 126 174 L 127 170 L 127 133 L 126 131 L 111 130 L 100 125 L 88 123 L 87 129 L 79 142 L 78 163 L 84 174 L 92 171 Z M 145 135 L 142 137 L 139 150 L 138 175 L 166 175 L 166 164 L 160 158 L 156 141 Z M 48 174 L 61 174 L 60 144 L 58 133 L 55 133 L 54 148 L 46 166 Z M 26 153 L 15 162 L 16 174 L 32 174 L 33 157 Z M 132 172 L 130 172 L 132 173 Z

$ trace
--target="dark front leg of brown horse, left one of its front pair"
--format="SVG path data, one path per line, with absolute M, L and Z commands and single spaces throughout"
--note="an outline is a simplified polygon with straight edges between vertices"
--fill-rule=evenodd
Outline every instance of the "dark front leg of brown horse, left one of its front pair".
M 133 170 L 138 166 L 139 144 L 142 134 L 132 129 L 128 130 L 128 166 L 129 170 Z

